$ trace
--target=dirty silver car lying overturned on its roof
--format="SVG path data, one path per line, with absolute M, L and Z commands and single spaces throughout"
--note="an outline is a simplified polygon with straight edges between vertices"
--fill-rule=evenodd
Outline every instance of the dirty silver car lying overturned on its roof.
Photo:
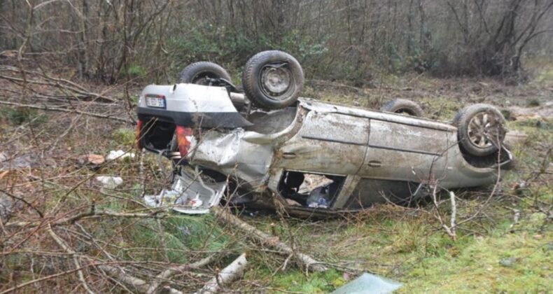
M 221 66 L 200 62 L 183 71 L 183 83 L 144 88 L 139 144 L 175 167 L 173 189 L 162 193 L 172 197 L 152 204 L 169 200 L 194 214 L 223 200 L 334 214 L 412 202 L 435 185 L 489 185 L 512 161 L 493 106 L 468 106 L 440 123 L 405 100 L 374 111 L 298 98 L 302 69 L 280 51 L 248 61 L 245 94 L 229 80 Z

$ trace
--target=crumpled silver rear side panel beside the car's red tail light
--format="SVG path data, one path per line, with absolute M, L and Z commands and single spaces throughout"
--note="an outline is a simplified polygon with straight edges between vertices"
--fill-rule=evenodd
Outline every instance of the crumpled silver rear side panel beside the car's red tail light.
M 265 143 L 257 137 L 258 133 L 241 128 L 224 133 L 210 130 L 202 134 L 188 160 L 193 165 L 237 176 L 251 188 L 258 188 L 269 176 L 274 141 Z

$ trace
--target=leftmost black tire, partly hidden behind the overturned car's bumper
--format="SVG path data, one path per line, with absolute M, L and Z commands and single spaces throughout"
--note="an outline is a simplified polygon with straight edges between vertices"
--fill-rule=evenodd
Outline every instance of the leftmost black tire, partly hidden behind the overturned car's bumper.
M 230 75 L 223 67 L 213 62 L 195 62 L 186 66 L 179 75 L 179 83 L 209 85 L 206 78 L 224 78 L 230 81 Z

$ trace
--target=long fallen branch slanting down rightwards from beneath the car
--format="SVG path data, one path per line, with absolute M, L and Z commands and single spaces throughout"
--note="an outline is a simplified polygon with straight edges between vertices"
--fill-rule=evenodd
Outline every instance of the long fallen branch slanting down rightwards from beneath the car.
M 265 232 L 262 232 L 261 230 L 256 229 L 252 225 L 249 225 L 248 223 L 242 221 L 233 214 L 230 214 L 228 210 L 221 207 L 213 207 L 212 209 L 217 216 L 217 221 L 219 221 L 223 225 L 228 225 L 230 223 L 231 225 L 235 226 L 235 228 L 244 232 L 246 237 L 254 239 L 261 244 L 276 248 L 276 250 L 283 255 L 294 255 L 297 262 L 300 262 L 300 264 L 304 265 L 307 269 L 312 269 L 315 272 L 324 272 L 328 269 L 327 267 L 322 265 L 322 262 L 318 262 L 307 254 L 293 250 L 293 248 L 288 246 L 288 244 L 279 241 L 279 237 L 269 235 Z

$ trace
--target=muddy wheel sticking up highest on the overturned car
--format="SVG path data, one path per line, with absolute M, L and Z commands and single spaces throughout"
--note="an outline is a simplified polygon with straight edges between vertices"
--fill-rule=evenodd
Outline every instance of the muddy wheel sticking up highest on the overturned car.
M 270 50 L 253 55 L 244 68 L 242 85 L 246 97 L 266 109 L 293 104 L 303 88 L 300 63 L 286 52 Z

